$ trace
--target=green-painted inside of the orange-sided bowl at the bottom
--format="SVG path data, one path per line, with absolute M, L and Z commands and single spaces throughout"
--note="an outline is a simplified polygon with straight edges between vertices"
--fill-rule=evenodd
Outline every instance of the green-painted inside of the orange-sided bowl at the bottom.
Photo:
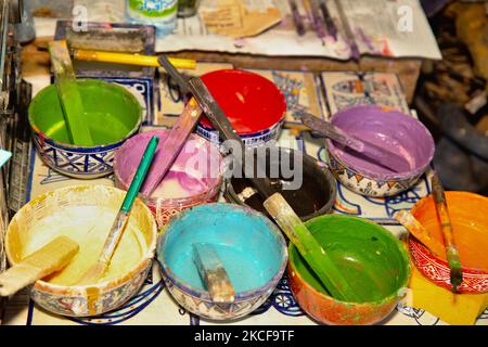
M 408 254 L 383 227 L 367 219 L 339 215 L 320 216 L 306 224 L 351 287 L 361 294 L 361 303 L 385 300 L 407 286 Z M 329 296 L 293 244 L 288 252 L 293 270 L 318 292 L 316 294 Z

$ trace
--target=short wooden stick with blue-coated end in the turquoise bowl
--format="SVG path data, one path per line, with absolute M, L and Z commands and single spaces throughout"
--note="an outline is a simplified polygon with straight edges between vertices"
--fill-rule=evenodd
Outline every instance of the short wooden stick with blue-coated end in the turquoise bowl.
M 211 300 L 217 304 L 233 303 L 234 287 L 215 248 L 206 243 L 193 244 L 193 261 L 207 286 Z

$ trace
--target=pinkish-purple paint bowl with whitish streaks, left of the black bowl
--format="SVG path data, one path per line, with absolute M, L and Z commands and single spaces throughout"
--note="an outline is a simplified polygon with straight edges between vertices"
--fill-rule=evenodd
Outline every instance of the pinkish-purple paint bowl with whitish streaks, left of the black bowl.
M 159 149 L 164 145 L 164 139 L 168 133 L 169 130 L 165 129 L 139 133 L 129 139 L 117 151 L 114 159 L 116 187 L 124 190 L 129 188 L 145 145 L 151 138 L 154 134 L 159 137 L 160 141 L 157 151 L 160 151 Z M 157 160 L 157 153 L 154 158 L 155 163 Z M 163 184 L 166 185 L 160 185 L 163 195 L 157 193 L 157 189 L 151 196 L 140 194 L 140 197 L 156 218 L 158 228 L 163 228 L 174 216 L 189 207 L 217 200 L 222 184 L 221 164 L 222 157 L 215 145 L 196 134 L 190 136 L 174 165 L 165 176 Z M 157 165 L 153 165 L 147 172 L 147 177 L 152 177 L 156 169 Z M 193 171 L 194 175 L 192 174 Z M 195 179 L 196 177 L 200 178 Z M 178 181 L 182 188 L 188 187 L 189 191 L 169 194 L 168 190 L 170 188 L 168 183 L 171 181 Z M 194 187 L 195 184 L 197 187 Z M 191 187 L 194 188 L 190 189 Z

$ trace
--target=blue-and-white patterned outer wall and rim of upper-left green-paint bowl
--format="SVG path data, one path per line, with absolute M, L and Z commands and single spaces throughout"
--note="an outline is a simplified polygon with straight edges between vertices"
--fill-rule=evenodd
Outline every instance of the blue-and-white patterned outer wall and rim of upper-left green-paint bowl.
M 77 179 L 95 179 L 113 172 L 115 152 L 127 139 L 140 131 L 142 123 L 142 107 L 139 101 L 124 87 L 102 80 L 88 79 L 78 80 L 78 83 L 81 86 L 104 85 L 105 90 L 117 91 L 117 93 L 120 93 L 124 98 L 127 98 L 129 102 L 139 105 L 137 114 L 134 114 L 134 118 L 137 118 L 136 125 L 121 140 L 103 145 L 80 146 L 60 142 L 50 138 L 43 133 L 33 120 L 33 110 L 36 102 L 38 102 L 46 93 L 52 92 L 55 86 L 51 85 L 42 89 L 36 98 L 34 98 L 29 106 L 29 124 L 33 130 L 34 143 L 36 144 L 42 162 L 53 170 L 68 177 Z M 103 100 L 101 100 L 101 102 L 103 102 Z M 52 106 L 54 107 L 56 105 Z

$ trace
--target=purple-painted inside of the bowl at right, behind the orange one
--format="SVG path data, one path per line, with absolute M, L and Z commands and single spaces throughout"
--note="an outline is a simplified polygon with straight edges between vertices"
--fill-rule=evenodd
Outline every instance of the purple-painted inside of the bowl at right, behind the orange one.
M 377 105 L 354 106 L 336 113 L 331 123 L 342 130 L 403 156 L 411 169 L 394 172 L 349 149 L 328 140 L 329 151 L 344 166 L 374 180 L 398 180 L 424 172 L 434 157 L 434 139 L 427 128 L 412 116 L 385 111 Z

